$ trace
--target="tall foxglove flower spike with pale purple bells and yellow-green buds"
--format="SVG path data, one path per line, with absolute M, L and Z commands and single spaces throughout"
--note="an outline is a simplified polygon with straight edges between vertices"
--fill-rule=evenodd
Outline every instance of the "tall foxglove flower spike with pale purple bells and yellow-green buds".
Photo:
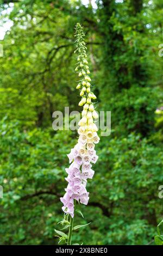
M 76 25 L 76 46 L 75 53 L 78 53 L 78 63 L 75 71 L 77 71 L 80 81 L 77 89 L 80 89 L 82 99 L 79 106 L 83 106 L 82 119 L 78 125 L 79 139 L 78 143 L 71 149 L 68 154 L 70 167 L 66 168 L 68 174 L 66 181 L 68 182 L 66 193 L 60 200 L 64 204 L 62 210 L 66 214 L 74 216 L 74 200 L 82 204 L 87 204 L 89 201 L 89 192 L 86 191 L 87 179 L 92 179 L 94 170 L 92 164 L 95 164 L 98 156 L 96 155 L 95 144 L 99 142 L 97 135 L 97 126 L 95 119 L 98 119 L 98 114 L 94 109 L 92 100 L 96 99 L 95 94 L 91 92 L 91 78 L 89 76 L 89 66 L 86 60 L 86 44 L 84 42 L 83 27 L 77 23 Z

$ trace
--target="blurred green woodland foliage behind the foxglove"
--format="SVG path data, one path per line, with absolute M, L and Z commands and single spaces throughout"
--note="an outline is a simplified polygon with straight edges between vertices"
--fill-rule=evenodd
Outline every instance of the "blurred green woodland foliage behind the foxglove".
M 111 135 L 101 137 L 89 205 L 77 206 L 90 225 L 74 231 L 84 245 L 154 243 L 162 217 L 163 4 L 159 0 L 1 1 L 0 243 L 54 245 L 63 212 L 66 154 L 72 131 L 53 131 L 52 113 L 79 110 L 74 25 L 85 27 L 97 110 L 111 111 Z M 9 4 L 10 3 L 10 4 Z M 10 11 L 9 11 L 10 8 Z

